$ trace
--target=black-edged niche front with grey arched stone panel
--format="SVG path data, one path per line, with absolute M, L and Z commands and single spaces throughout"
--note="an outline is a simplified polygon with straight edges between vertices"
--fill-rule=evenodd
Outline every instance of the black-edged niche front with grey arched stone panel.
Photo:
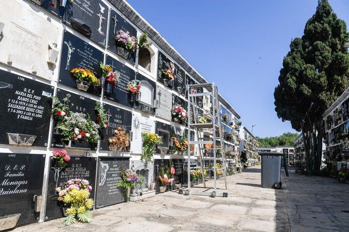
M 137 74 L 137 80 L 140 81 L 140 93 L 136 97 L 135 108 L 143 112 L 155 114 L 154 101 L 156 99 L 156 83 L 142 74 Z

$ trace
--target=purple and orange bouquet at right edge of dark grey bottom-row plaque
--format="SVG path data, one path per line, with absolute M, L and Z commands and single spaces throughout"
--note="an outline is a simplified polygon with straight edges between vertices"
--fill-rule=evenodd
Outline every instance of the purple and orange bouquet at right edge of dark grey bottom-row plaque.
M 117 187 L 122 188 L 122 195 L 126 201 L 129 201 L 129 194 L 131 189 L 136 188 L 138 181 L 136 171 L 123 167 L 121 168 L 121 179 L 117 184 Z

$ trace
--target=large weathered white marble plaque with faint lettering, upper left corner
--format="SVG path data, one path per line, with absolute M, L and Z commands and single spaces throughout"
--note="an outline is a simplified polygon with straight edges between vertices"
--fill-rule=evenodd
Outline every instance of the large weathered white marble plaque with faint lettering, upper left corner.
M 0 62 L 51 80 L 60 45 L 59 29 L 16 1 L 0 0 Z

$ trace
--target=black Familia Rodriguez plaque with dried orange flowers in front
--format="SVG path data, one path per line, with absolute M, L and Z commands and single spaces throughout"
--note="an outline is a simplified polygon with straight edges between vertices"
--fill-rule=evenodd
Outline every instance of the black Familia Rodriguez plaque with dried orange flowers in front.
M 100 150 L 128 152 L 130 148 L 132 112 L 109 104 L 103 104 L 109 127 L 101 133 Z

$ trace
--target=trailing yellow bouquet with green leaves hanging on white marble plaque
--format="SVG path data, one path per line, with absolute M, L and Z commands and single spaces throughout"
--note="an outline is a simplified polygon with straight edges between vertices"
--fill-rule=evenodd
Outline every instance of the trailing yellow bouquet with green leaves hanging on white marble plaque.
M 162 143 L 162 138 L 155 133 L 142 133 L 142 155 L 141 161 L 150 162 L 153 157 L 156 145 Z

